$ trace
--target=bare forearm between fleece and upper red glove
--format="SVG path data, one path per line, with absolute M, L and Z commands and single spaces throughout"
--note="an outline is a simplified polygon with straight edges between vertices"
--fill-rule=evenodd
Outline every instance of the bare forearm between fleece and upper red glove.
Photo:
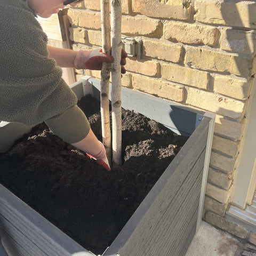
M 47 46 L 49 58 L 54 59 L 57 66 L 62 68 L 74 68 L 74 59 L 77 52 L 70 49 L 61 49 L 53 46 Z

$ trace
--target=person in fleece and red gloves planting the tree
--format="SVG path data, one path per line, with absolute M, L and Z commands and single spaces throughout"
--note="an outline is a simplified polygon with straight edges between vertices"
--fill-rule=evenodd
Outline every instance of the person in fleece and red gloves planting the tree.
M 61 78 L 61 67 L 100 70 L 114 58 L 101 50 L 74 51 L 47 46 L 36 20 L 49 18 L 72 0 L 0 0 L 0 120 L 36 125 L 52 132 L 110 170 L 105 147 L 95 137 L 77 98 Z M 127 54 L 122 50 L 121 73 Z

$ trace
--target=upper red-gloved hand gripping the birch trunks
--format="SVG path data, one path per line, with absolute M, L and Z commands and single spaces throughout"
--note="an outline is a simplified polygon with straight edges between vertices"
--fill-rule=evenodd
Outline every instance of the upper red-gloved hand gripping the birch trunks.
M 122 49 L 121 54 L 121 73 L 125 74 L 127 53 Z M 102 49 L 95 49 L 93 51 L 79 51 L 74 59 L 74 67 L 76 69 L 90 69 L 101 70 L 102 62 L 112 63 L 114 58 L 102 52 Z

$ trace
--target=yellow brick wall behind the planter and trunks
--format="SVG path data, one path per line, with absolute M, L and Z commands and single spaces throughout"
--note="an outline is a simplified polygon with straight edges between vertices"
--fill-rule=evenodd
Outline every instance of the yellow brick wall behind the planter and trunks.
M 142 40 L 122 85 L 217 114 L 205 212 L 225 215 L 256 71 L 256 2 L 123 0 L 122 12 L 122 34 Z M 74 50 L 101 46 L 100 0 L 68 15 Z

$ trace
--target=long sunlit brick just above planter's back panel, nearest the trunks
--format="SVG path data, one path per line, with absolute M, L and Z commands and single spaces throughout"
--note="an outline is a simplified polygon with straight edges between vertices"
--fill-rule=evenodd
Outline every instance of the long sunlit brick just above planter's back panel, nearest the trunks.
M 183 100 L 183 87 L 171 83 L 166 83 L 156 78 L 146 76 L 132 76 L 133 89 L 137 89 L 149 94 L 155 94 L 158 97 L 181 102 Z

